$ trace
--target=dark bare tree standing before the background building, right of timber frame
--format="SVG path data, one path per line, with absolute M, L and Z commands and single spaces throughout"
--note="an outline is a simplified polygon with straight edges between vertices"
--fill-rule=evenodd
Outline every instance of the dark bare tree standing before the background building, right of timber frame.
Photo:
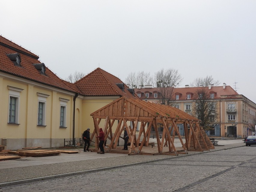
M 200 126 L 204 130 L 214 129 L 214 124 L 218 123 L 218 107 L 214 99 L 210 98 L 210 93 L 205 87 L 196 91 L 195 102 L 193 102 L 192 115 L 199 120 Z

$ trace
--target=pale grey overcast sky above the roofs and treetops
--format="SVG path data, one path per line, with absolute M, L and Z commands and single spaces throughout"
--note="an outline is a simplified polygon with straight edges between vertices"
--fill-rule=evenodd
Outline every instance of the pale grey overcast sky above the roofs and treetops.
M 1 1 L 0 34 L 60 78 L 97 67 L 212 75 L 256 103 L 256 1 Z

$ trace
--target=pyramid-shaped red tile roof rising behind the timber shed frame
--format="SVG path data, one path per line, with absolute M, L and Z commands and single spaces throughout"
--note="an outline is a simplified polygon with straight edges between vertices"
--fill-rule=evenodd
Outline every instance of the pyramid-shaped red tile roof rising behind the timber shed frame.
M 104 71 L 101 68 L 95 69 L 93 72 L 84 76 L 74 84 L 81 90 L 85 96 L 126 96 L 134 97 L 124 84 L 124 92 L 116 83 L 123 83 L 119 78 Z M 138 96 L 135 97 L 138 98 Z

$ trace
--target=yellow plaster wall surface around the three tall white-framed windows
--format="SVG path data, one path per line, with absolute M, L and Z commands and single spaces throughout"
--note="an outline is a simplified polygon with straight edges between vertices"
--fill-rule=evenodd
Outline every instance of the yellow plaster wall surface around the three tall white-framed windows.
M 23 89 L 19 97 L 18 124 L 8 124 L 9 90 L 8 86 Z M 23 81 L 0 78 L 1 114 L 0 138 L 31 139 L 31 138 L 72 138 L 73 130 L 73 95 L 51 90 L 50 87 L 39 87 Z M 37 126 L 38 95 L 49 95 L 46 98 L 45 127 Z M 66 127 L 59 127 L 60 100 L 68 99 L 66 106 Z

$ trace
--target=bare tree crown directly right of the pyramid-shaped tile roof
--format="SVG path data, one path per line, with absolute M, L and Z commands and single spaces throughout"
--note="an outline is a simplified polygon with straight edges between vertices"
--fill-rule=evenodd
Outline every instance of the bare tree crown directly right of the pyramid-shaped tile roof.
M 130 72 L 125 79 L 125 84 L 129 84 L 131 88 L 144 87 L 145 85 L 151 85 L 153 78 L 150 73 L 147 72 Z

